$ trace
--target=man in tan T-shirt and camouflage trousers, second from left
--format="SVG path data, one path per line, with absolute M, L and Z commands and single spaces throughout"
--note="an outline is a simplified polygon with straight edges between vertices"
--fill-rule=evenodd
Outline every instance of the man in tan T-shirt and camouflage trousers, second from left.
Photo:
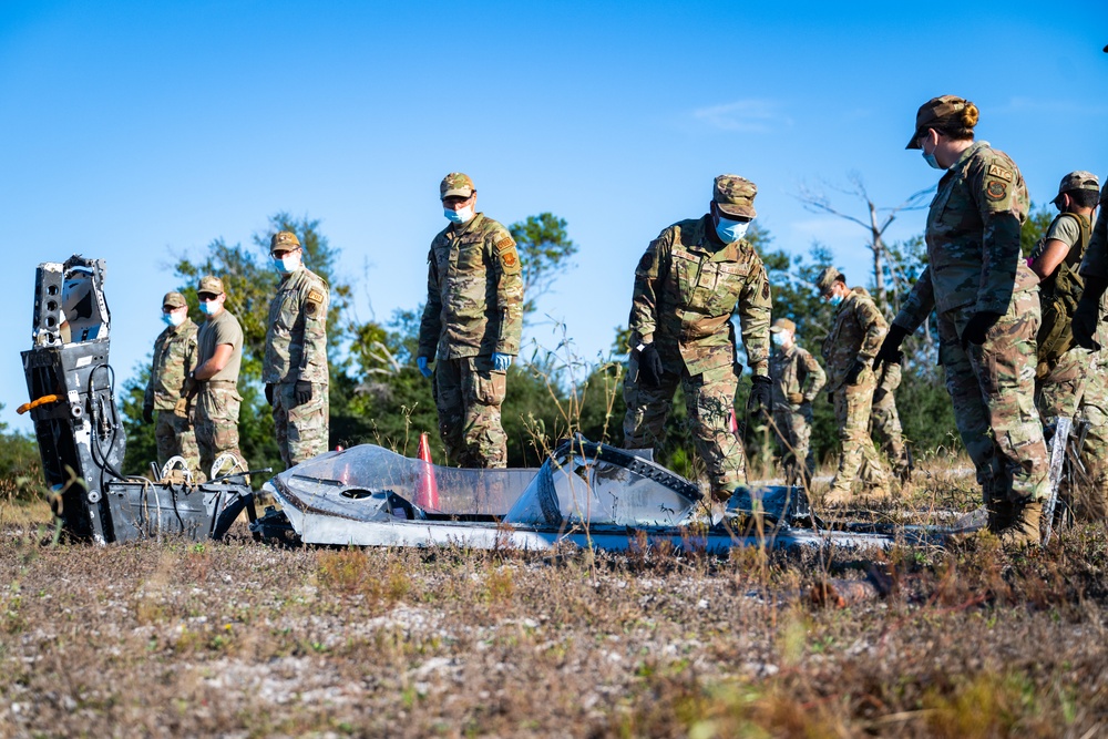
M 189 394 L 195 396 L 196 443 L 201 471 L 207 473 L 224 452 L 232 453 L 246 470 L 238 451 L 238 370 L 243 363 L 243 327 L 224 307 L 227 294 L 223 280 L 207 275 L 196 288 L 201 312 L 207 318 L 196 335 L 197 367 L 193 370 Z

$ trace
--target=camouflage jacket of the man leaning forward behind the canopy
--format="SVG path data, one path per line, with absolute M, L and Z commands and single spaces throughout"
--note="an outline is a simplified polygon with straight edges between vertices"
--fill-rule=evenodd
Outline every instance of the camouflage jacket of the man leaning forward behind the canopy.
M 635 269 L 632 346 L 654 342 L 689 374 L 735 362 L 738 310 L 747 363 L 769 372 L 769 278 L 749 242 L 724 245 L 711 216 L 681 220 L 650 242 Z

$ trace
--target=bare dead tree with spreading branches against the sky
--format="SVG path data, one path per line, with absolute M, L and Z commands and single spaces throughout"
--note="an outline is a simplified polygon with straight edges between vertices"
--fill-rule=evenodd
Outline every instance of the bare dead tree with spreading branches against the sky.
M 827 181 L 821 181 L 823 187 L 820 189 L 813 189 L 804 184 L 801 184 L 800 193 L 797 195 L 797 198 L 803 204 L 806 209 L 811 211 L 812 213 L 829 213 L 838 218 L 843 218 L 853 224 L 858 224 L 866 230 L 870 237 L 869 248 L 873 254 L 873 287 L 876 292 L 878 305 L 880 305 L 882 310 L 888 314 L 890 311 L 890 306 L 889 301 L 885 299 L 886 266 L 890 268 L 893 284 L 897 290 L 902 289 L 903 285 L 906 284 L 906 280 L 904 279 L 902 265 L 889 265 L 889 250 L 885 247 L 885 243 L 882 237 L 889 226 L 892 225 L 892 223 L 896 219 L 896 216 L 901 213 L 905 211 L 919 211 L 925 207 L 925 201 L 927 196 L 934 192 L 935 186 L 932 185 L 926 189 L 912 193 L 900 205 L 893 207 L 879 207 L 873 202 L 873 198 L 870 197 L 870 193 L 866 191 L 865 184 L 862 182 L 861 174 L 858 172 L 851 172 L 848 174 L 847 179 L 850 183 L 847 187 L 832 185 Z M 831 198 L 828 197 L 827 189 L 833 189 L 864 203 L 866 211 L 865 216 L 858 217 L 833 206 L 831 204 Z

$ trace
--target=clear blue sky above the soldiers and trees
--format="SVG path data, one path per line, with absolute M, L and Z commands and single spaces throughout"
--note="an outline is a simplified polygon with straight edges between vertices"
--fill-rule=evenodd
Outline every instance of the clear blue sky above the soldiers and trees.
M 720 173 L 758 184 L 776 246 L 819 239 L 862 283 L 865 233 L 804 211 L 801 184 L 858 172 L 882 205 L 934 184 L 904 144 L 916 107 L 946 93 L 977 103 L 978 137 L 1036 203 L 1071 170 L 1104 177 L 1106 43 L 1102 1 L 2 0 L 0 419 L 31 428 L 14 408 L 40 261 L 107 260 L 122 382 L 162 328 L 176 258 L 248 244 L 281 209 L 321 219 L 359 318 L 414 308 L 451 171 L 504 224 L 568 222 L 577 266 L 540 311 L 585 359 L 626 324 L 648 242 L 705 213 Z

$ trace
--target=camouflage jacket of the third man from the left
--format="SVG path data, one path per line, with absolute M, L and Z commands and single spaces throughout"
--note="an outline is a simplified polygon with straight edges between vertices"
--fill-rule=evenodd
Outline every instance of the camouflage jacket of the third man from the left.
M 261 381 L 327 382 L 327 283 L 307 267 L 281 278 L 269 302 Z

